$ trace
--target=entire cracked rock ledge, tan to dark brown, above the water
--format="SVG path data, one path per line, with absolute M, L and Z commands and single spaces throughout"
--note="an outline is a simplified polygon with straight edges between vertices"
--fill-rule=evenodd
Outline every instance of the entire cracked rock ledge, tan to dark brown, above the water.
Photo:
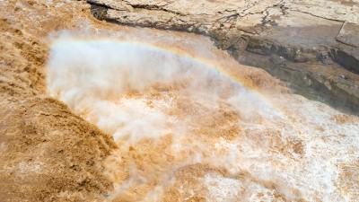
M 359 0 L 88 0 L 109 22 L 205 34 L 293 92 L 359 114 Z

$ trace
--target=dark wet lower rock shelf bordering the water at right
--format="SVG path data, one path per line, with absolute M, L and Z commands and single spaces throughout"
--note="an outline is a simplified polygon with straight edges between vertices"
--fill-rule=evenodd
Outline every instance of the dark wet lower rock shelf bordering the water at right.
M 328 103 L 347 113 L 359 114 L 359 75 L 336 64 L 295 63 L 276 54 L 262 56 L 246 52 L 244 55 L 241 57 L 242 64 L 267 70 L 271 75 L 289 83 L 293 92 L 311 100 Z M 345 78 L 341 75 L 345 75 Z

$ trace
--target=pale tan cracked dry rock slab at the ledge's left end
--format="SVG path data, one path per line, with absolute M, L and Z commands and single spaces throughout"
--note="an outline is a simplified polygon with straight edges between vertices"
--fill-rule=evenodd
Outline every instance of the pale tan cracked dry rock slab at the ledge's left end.
M 122 23 L 182 29 L 208 33 L 222 26 L 223 19 L 237 18 L 249 13 L 262 13 L 280 1 L 101 1 L 91 4 L 109 7 L 107 19 Z

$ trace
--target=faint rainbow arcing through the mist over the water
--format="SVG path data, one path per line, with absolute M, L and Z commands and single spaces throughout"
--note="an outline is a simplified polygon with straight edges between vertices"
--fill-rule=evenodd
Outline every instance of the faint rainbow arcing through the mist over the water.
M 219 66 L 214 64 L 213 61 L 210 61 L 203 57 L 197 57 L 196 55 L 190 54 L 188 51 L 183 50 L 181 48 L 175 48 L 175 47 L 169 47 L 169 46 L 160 46 L 157 44 L 152 44 L 144 41 L 138 41 L 138 40 L 114 40 L 114 39 L 60 39 L 55 40 L 53 43 L 50 44 L 50 48 L 60 48 L 63 46 L 71 46 L 71 45 L 84 45 L 84 44 L 93 44 L 93 45 L 118 45 L 118 46 L 130 46 L 134 48 L 143 48 L 145 50 L 151 50 L 162 54 L 167 54 L 171 56 L 176 56 L 180 58 L 187 59 L 194 64 L 200 65 L 200 66 L 206 66 L 207 68 L 210 68 L 212 70 L 215 70 L 215 72 L 218 75 L 221 75 L 225 78 L 230 79 L 232 82 L 237 83 L 241 87 L 245 88 L 247 91 L 251 92 L 255 97 L 258 98 L 258 100 L 262 101 L 269 107 L 271 110 L 274 110 L 280 115 L 282 119 L 285 119 L 285 121 L 293 128 L 293 130 L 296 132 L 297 135 L 301 135 L 301 130 L 295 126 L 293 121 L 291 119 L 288 119 L 288 117 L 285 115 L 285 113 L 280 110 L 276 105 L 267 99 L 264 95 L 262 95 L 260 92 L 258 92 L 258 89 L 256 86 L 254 86 L 250 81 L 246 81 L 245 79 L 241 78 L 238 75 L 233 74 L 231 71 L 227 70 L 223 66 Z

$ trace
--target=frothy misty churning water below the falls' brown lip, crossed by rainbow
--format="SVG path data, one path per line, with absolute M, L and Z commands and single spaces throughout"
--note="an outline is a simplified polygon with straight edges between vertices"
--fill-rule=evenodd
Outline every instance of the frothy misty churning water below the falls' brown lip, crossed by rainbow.
M 291 94 L 211 40 L 87 27 L 52 41 L 49 92 L 118 144 L 106 200 L 359 198 L 359 119 Z

